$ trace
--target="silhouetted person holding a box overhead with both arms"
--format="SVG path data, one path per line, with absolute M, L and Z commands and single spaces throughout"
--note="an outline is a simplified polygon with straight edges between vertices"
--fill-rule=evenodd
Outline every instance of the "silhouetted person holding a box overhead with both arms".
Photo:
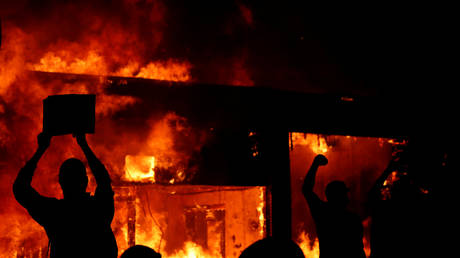
M 45 229 L 51 245 L 51 258 L 116 258 L 117 243 L 110 227 L 114 216 L 114 193 L 109 173 L 91 151 L 85 135 L 77 135 L 76 139 L 96 179 L 94 196 L 86 192 L 85 165 L 75 158 L 64 161 L 59 170 L 64 199 L 44 197 L 32 188 L 37 163 L 50 145 L 51 137 L 43 133 L 38 135 L 37 151 L 19 171 L 13 185 L 14 196 Z

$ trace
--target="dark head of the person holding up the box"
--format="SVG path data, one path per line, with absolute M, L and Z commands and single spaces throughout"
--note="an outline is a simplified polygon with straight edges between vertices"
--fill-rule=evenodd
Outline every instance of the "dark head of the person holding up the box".
M 64 161 L 59 169 L 59 184 L 64 198 L 81 196 L 85 193 L 88 186 L 85 164 L 76 158 Z

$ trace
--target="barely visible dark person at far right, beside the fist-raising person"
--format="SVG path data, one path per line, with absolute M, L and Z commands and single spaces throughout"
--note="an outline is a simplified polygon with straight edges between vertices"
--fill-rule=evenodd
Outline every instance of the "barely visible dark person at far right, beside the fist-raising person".
M 432 222 L 426 215 L 431 211 L 423 210 L 419 188 L 408 175 L 401 175 L 393 182 L 389 197 L 381 196 L 385 180 L 398 166 L 391 161 L 369 193 L 371 257 L 429 257 L 433 243 L 427 241 L 431 238 L 427 227 Z

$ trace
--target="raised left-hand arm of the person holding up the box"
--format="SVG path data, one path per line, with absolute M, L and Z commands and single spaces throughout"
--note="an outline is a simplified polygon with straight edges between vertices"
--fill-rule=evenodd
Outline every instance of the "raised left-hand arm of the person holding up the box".
M 16 200 L 26 209 L 42 196 L 32 188 L 32 178 L 37 168 L 38 161 L 41 159 L 46 149 L 48 149 L 51 141 L 51 136 L 40 133 L 37 137 L 38 148 L 32 158 L 27 161 L 23 168 L 18 173 L 13 184 L 13 193 Z

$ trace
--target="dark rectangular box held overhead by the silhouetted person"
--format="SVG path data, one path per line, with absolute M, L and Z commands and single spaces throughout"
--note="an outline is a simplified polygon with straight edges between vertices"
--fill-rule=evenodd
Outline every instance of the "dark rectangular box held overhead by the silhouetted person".
M 50 135 L 94 133 L 96 95 L 52 95 L 43 100 L 43 132 Z

